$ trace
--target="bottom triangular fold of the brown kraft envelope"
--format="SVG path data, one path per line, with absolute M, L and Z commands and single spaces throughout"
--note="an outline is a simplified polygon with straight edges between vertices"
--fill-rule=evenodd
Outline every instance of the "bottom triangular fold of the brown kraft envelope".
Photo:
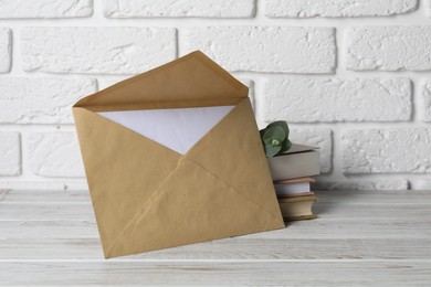
M 257 203 L 183 158 L 148 204 L 105 249 L 105 257 L 280 227 L 280 222 Z

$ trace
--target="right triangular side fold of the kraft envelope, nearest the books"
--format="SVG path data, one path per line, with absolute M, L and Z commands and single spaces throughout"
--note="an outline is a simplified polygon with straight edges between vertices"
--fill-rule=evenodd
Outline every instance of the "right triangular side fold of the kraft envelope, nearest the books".
M 249 98 L 242 99 L 185 157 L 259 203 L 274 220 L 282 221 Z

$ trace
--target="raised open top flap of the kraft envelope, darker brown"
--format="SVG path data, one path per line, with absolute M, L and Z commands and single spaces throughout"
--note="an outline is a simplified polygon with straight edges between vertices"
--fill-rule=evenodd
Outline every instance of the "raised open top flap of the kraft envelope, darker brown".
M 136 109 L 143 104 L 157 108 L 160 103 L 183 107 L 183 104 L 196 106 L 200 100 L 210 100 L 210 105 L 228 105 L 244 97 L 248 97 L 245 85 L 197 51 L 82 98 L 75 107 L 115 110 Z M 182 106 L 176 105 L 177 102 Z M 151 103 L 158 105 L 151 107 L 148 105 Z

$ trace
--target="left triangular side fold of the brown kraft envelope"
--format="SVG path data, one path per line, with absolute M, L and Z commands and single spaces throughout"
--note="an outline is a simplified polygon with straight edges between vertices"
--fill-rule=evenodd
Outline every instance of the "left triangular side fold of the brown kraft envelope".
M 180 155 L 85 108 L 73 109 L 104 248 L 178 164 Z

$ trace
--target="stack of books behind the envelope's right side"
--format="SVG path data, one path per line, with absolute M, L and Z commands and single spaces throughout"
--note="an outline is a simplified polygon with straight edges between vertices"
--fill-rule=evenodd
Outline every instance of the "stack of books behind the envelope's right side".
M 317 201 L 311 189 L 319 174 L 320 156 L 316 147 L 293 144 L 283 155 L 267 158 L 280 209 L 285 221 L 315 219 L 313 203 Z

